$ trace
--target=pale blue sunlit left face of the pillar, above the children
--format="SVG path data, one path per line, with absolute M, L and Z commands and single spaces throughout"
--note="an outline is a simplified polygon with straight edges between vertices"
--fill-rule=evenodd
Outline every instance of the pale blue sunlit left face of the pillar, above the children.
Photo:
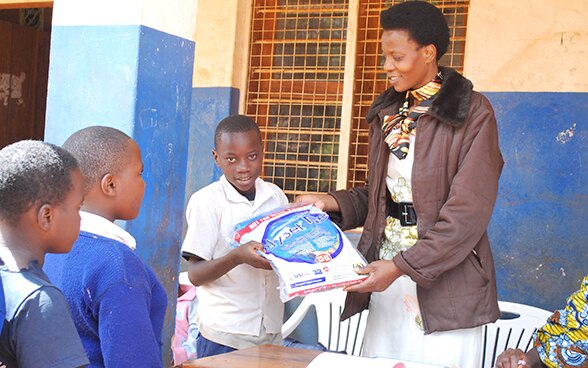
M 61 144 L 90 125 L 132 134 L 138 73 L 138 26 L 54 26 L 45 139 Z

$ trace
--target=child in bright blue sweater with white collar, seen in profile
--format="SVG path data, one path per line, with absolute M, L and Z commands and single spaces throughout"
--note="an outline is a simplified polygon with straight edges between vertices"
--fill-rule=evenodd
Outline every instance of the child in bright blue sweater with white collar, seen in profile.
M 137 143 L 93 126 L 63 144 L 86 179 L 81 231 L 72 251 L 47 257 L 45 271 L 64 292 L 92 367 L 161 367 L 167 296 L 135 254 L 135 239 L 113 222 L 139 214 L 145 191 Z

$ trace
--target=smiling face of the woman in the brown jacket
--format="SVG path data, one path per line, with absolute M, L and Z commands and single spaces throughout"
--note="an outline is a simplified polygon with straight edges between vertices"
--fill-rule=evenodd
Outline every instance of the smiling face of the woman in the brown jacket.
M 429 83 L 438 72 L 435 46 L 421 46 L 403 29 L 382 33 L 384 71 L 397 92 Z

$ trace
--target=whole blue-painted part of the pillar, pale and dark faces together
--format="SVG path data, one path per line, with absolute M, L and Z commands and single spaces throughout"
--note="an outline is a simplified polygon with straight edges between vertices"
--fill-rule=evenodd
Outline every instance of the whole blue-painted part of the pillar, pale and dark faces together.
M 46 140 L 61 144 L 83 127 L 108 125 L 141 147 L 145 197 L 139 217 L 126 229 L 169 297 L 166 362 L 175 318 L 193 65 L 194 42 L 149 27 L 53 27 Z

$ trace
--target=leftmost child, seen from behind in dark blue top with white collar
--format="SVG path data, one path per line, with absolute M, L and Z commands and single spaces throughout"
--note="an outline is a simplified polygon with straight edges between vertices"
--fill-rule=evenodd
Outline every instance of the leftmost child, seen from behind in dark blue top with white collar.
M 0 150 L 0 367 L 88 364 L 67 302 L 41 269 L 46 253 L 71 250 L 83 200 L 82 173 L 64 149 L 21 141 Z

